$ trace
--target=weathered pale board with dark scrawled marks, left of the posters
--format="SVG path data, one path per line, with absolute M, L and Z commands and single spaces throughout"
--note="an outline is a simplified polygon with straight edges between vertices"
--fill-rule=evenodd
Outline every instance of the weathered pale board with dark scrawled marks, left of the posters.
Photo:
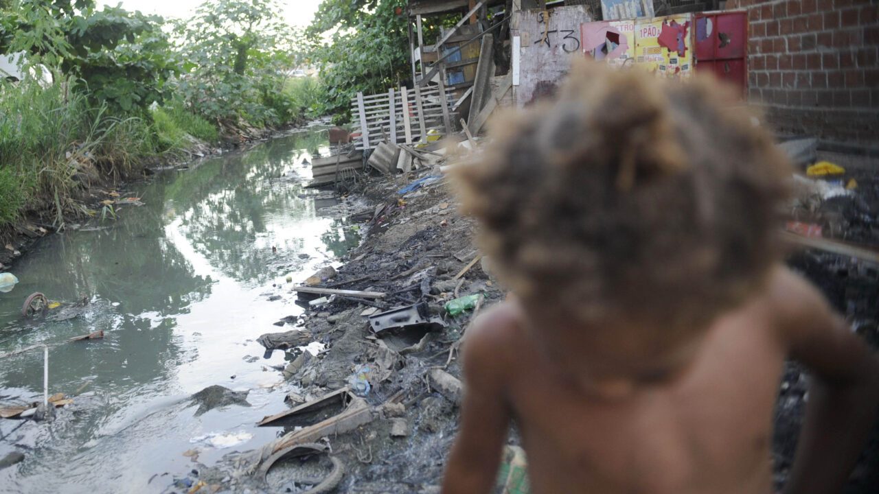
M 519 36 L 520 44 L 519 84 L 513 85 L 517 105 L 527 105 L 556 90 L 556 84 L 570 69 L 571 58 L 584 56 L 580 25 L 591 21 L 585 5 L 514 14 L 511 34 Z

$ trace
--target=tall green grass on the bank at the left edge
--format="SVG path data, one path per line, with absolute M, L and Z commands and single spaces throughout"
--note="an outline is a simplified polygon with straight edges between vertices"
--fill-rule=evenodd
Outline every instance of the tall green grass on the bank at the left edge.
M 85 186 L 120 178 L 155 152 L 144 120 L 110 115 L 67 87 L 0 85 L 0 227 L 29 210 L 51 212 L 61 226 L 82 210 L 75 199 Z

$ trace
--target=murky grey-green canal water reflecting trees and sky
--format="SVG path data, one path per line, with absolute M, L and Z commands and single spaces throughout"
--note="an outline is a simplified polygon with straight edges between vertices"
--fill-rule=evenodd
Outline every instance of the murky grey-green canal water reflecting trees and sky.
M 209 464 L 275 437 L 254 423 L 286 408 L 268 367 L 283 355 L 264 359 L 255 339 L 300 313 L 287 275 L 302 280 L 359 241 L 301 187 L 302 160 L 324 144 L 294 134 L 162 174 L 123 194 L 144 206 L 51 236 L 13 266 L 21 282 L 0 294 L 0 353 L 54 345 L 49 393 L 75 403 L 49 423 L 0 418 L 0 457 L 25 454 L 0 470 L 0 491 L 157 492 L 193 469 L 187 450 Z M 91 303 L 68 321 L 27 322 L 19 311 L 36 291 Z M 66 342 L 97 330 L 103 340 Z M 42 366 L 41 351 L 0 360 L 0 403 L 40 401 Z M 187 397 L 212 384 L 249 389 L 252 407 L 193 417 Z

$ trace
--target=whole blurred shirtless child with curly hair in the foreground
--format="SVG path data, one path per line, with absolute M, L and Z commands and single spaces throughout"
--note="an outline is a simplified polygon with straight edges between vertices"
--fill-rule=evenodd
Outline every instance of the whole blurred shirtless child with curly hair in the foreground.
M 458 172 L 512 296 L 468 331 L 444 493 L 490 492 L 515 421 L 535 494 L 769 494 L 787 357 L 812 381 L 785 491 L 842 489 L 879 361 L 781 264 L 788 163 L 714 85 L 577 65 Z

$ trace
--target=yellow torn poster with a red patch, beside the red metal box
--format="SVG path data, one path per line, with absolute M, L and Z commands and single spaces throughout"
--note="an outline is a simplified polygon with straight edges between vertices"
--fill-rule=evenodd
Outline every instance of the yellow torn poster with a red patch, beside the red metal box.
M 659 76 L 693 73 L 693 15 L 681 14 L 635 21 L 637 65 Z

